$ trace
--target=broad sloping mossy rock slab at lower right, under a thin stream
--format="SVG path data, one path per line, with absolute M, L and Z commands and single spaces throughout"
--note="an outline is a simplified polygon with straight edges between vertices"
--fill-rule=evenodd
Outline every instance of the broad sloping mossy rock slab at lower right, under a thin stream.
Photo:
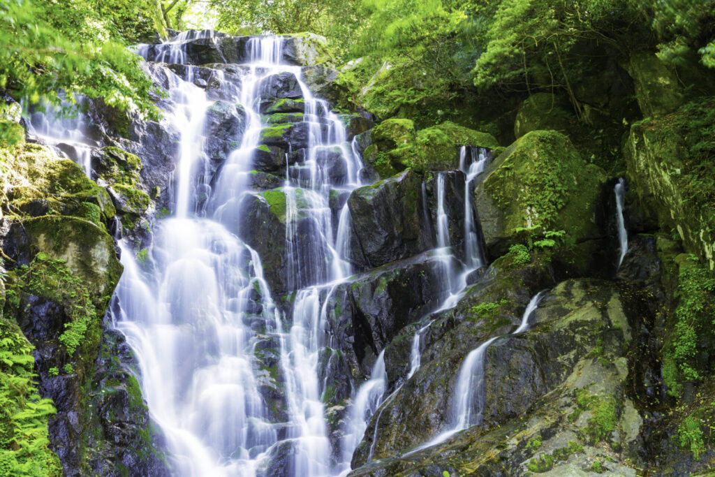
M 441 386 L 453 388 L 448 370 L 458 368 L 459 355 L 469 347 L 504 333 L 505 328 L 497 321 L 489 330 L 475 320 L 472 326 L 477 334 L 471 338 L 474 344 L 465 343 L 466 350 L 451 343 L 436 349 L 432 345 L 438 354 L 420 368 L 417 382 L 408 381 L 383 405 L 372 456 L 383 459 L 351 475 L 388 476 L 404 471 L 427 476 L 440 476 L 443 471 L 458 475 L 551 471 L 552 475 L 564 475 L 598 460 L 605 471 L 635 476 L 635 468 L 618 463 L 623 453 L 638 448 L 644 423 L 621 384 L 628 373 L 623 345 L 631 339 L 625 308 L 623 297 L 608 282 L 562 282 L 539 305 L 531 330 L 496 340 L 488 348 L 480 426 L 410 456 L 384 458 L 393 455 L 395 448 L 408 448 L 433 436 L 425 426 L 435 429 L 448 421 L 450 396 L 439 391 Z M 506 320 L 506 330 L 509 325 Z M 440 339 L 454 337 L 455 331 L 465 326 L 459 325 Z M 462 330 L 462 336 L 470 334 Z M 450 366 L 445 360 L 455 364 Z M 432 405 L 425 406 L 425 400 Z M 415 408 L 430 411 L 413 415 L 409 410 Z M 365 434 L 368 441 L 374 421 Z M 495 442 L 505 445 L 494 449 Z M 608 448 L 598 445 L 601 442 L 613 444 Z M 358 448 L 355 465 L 363 462 L 365 451 Z

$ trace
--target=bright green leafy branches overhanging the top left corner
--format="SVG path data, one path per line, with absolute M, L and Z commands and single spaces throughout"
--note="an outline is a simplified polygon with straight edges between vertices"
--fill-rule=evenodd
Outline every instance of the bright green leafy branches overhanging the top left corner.
M 41 99 L 76 104 L 84 95 L 156 117 L 149 99 L 154 85 L 139 56 L 127 49 L 128 41 L 149 28 L 128 20 L 144 1 L 149 0 L 111 0 L 97 9 L 89 1 L 0 3 L 0 89 L 26 104 Z M 117 8 L 105 17 L 102 12 L 114 4 Z

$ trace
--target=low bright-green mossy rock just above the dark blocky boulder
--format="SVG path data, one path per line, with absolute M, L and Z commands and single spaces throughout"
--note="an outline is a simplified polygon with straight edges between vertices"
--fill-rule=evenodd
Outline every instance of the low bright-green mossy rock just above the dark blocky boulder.
M 365 160 L 380 177 L 407 168 L 415 172 L 456 169 L 461 146 L 498 146 L 491 134 L 451 122 L 415 131 L 410 119 L 386 119 L 375 126 L 370 136 L 373 144 L 365 149 Z

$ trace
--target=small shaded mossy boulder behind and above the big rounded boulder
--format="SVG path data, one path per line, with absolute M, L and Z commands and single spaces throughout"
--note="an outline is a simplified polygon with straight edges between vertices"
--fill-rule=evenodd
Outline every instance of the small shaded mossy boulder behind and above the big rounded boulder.
M 569 104 L 556 94 L 536 93 L 524 100 L 516 113 L 514 135 L 519 138 L 527 132 L 544 129 L 567 131 L 573 114 Z

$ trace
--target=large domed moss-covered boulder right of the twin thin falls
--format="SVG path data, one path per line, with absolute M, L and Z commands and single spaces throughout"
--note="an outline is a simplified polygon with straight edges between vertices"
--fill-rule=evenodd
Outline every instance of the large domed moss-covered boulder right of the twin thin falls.
M 573 242 L 601 235 L 598 206 L 606 174 L 555 131 L 518 139 L 489 167 L 475 202 L 489 252 L 563 231 Z M 526 237 L 526 239 L 525 239 Z

